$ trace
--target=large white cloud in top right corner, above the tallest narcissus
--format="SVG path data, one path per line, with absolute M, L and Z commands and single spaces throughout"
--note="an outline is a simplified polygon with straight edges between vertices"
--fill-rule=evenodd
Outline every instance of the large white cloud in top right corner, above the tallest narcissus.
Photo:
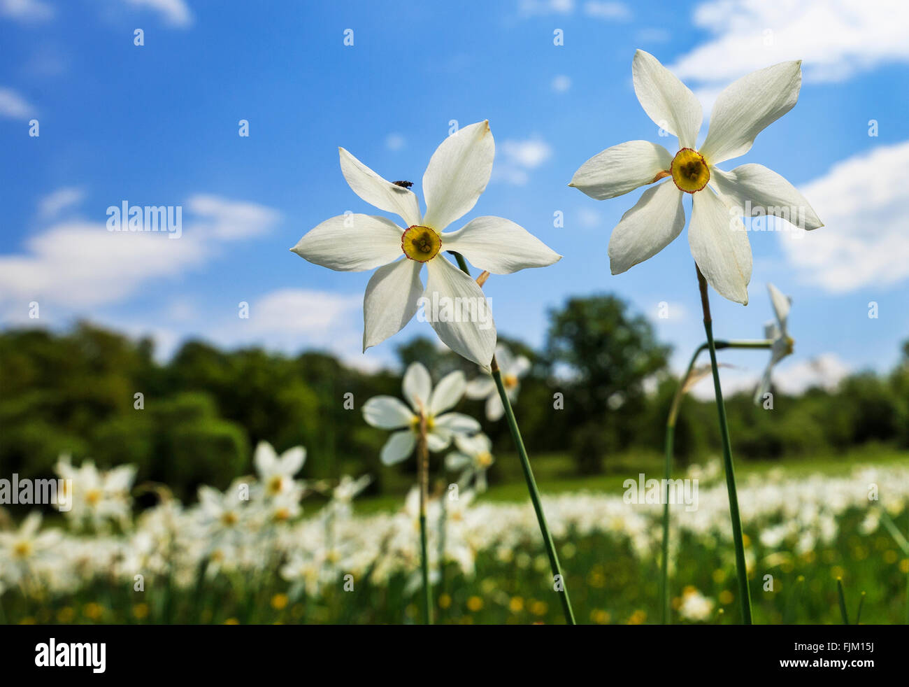
M 909 61 L 904 0 L 711 0 L 694 25 L 713 35 L 669 68 L 680 78 L 727 83 L 803 59 L 806 81 L 843 81 L 886 62 Z

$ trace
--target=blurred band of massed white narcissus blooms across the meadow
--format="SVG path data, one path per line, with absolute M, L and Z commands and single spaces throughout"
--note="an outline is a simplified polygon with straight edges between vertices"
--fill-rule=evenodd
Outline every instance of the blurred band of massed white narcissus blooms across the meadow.
M 715 472 L 714 462 L 692 474 L 703 480 Z M 329 587 L 336 589 L 348 573 L 355 576 L 358 588 L 361 584 L 385 585 L 401 576 L 408 591 L 415 591 L 420 587 L 413 582 L 418 579 L 414 571 L 420 555 L 418 492 L 412 490 L 405 508 L 397 513 L 354 516 L 349 500 L 367 480 L 342 479 L 335 486 L 333 500 L 317 515 L 280 523 L 275 521 L 275 509 L 294 491 L 266 499 L 264 490 L 251 489 L 252 496 L 246 501 L 241 499 L 240 488 L 246 481 L 252 482 L 250 478 L 235 480 L 224 492 L 204 487 L 200 502 L 185 507 L 161 490 L 162 502 L 137 517 L 130 512 L 130 526 L 121 531 L 85 530 L 72 519 L 64 520 L 65 530 L 42 530 L 40 515 L 33 513 L 15 529 L 0 529 L 0 593 L 16 587 L 74 593 L 99 580 L 112 579 L 131 585 L 140 572 L 146 584 L 160 577 L 186 590 L 197 584 L 202 570 L 206 579 L 227 581 L 238 579 L 237 575 L 242 579 L 251 573 L 278 572 L 292 596 L 317 597 Z M 886 485 L 879 503 L 868 500 L 870 482 Z M 752 523 L 755 534 L 754 551 L 747 551 L 748 565 L 754 568 L 759 553 L 763 565 L 773 566 L 787 557 L 829 547 L 838 536 L 852 536 L 851 528 L 864 535 L 873 533 L 884 510 L 893 517 L 904 513 L 909 470 L 894 464 L 838 477 L 748 480 L 740 492 L 742 515 Z M 460 490 L 453 499 L 446 492 L 445 500 L 435 498 L 427 503 L 433 570 L 445 561 L 470 576 L 480 556 L 533 565 L 534 557 L 526 547 L 527 541 L 536 541 L 538 530 L 530 503 L 478 501 L 474 493 L 473 489 Z M 659 504 L 629 510 L 619 495 L 563 493 L 545 496 L 544 507 L 551 513 L 550 526 L 557 539 L 602 535 L 626 542 L 642 561 L 652 560 L 660 551 Z M 680 510 L 675 526 L 680 536 L 711 549 L 729 541 L 724 484 L 702 484 L 698 509 Z M 841 528 L 846 529 L 841 532 Z M 443 531 L 444 541 L 440 539 Z M 710 621 L 714 609 L 714 600 L 700 591 L 680 596 L 678 612 L 686 621 Z

